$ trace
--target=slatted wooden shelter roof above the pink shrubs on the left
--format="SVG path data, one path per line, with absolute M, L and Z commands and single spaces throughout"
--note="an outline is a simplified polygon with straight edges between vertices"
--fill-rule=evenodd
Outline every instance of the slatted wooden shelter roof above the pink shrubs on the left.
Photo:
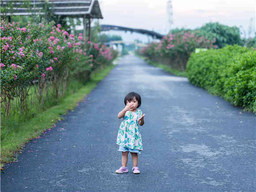
M 24 7 L 26 2 L 29 2 L 30 8 Z M 50 4 L 49 9 L 53 10 L 54 15 L 85 15 L 86 18 L 103 19 L 98 0 L 1 0 L 1 7 L 8 9 L 1 15 L 43 15 L 46 2 Z

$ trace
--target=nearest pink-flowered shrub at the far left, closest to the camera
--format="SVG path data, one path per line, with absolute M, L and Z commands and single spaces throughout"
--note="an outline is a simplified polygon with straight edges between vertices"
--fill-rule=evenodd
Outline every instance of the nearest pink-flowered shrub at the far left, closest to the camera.
M 41 52 L 35 50 L 30 29 L 20 28 L 18 23 L 1 21 L 1 99 L 7 102 L 21 94 L 17 87 L 26 86 L 39 74 L 35 65 L 41 60 Z M 30 38 L 28 38 L 30 37 Z

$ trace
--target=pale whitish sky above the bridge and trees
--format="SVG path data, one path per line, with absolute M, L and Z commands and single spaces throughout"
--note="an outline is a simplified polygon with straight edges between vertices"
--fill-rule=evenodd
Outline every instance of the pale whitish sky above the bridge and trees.
M 100 24 L 166 34 L 167 0 L 99 0 L 99 3 L 104 17 L 99 19 Z M 172 0 L 172 4 L 173 28 L 195 29 L 209 22 L 218 22 L 228 26 L 241 26 L 241 32 L 245 32 L 246 37 L 251 26 L 251 37 L 254 37 L 256 0 Z M 106 33 L 121 35 L 124 41 L 149 40 L 145 35 L 130 32 Z

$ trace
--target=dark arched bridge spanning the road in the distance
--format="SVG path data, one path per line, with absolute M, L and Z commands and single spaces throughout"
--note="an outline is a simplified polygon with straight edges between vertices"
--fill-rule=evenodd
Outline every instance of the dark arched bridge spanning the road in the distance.
M 164 35 L 158 34 L 154 31 L 150 30 L 144 30 L 144 29 L 134 29 L 134 28 L 129 28 L 129 27 L 124 27 L 124 26 L 116 26 L 116 25 L 101 25 L 101 31 L 108 31 L 108 30 L 123 30 L 123 31 L 131 31 L 131 32 L 136 32 L 140 34 L 147 34 L 151 36 L 153 39 L 162 39 Z

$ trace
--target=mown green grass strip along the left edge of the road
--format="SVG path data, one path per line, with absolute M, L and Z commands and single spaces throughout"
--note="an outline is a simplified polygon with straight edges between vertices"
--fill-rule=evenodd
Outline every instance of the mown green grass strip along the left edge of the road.
M 46 129 L 52 128 L 61 119 L 62 115 L 66 114 L 68 110 L 74 109 L 97 86 L 98 82 L 109 74 L 114 66 L 111 64 L 92 74 L 91 80 L 86 85 L 64 98 L 58 105 L 39 113 L 29 121 L 19 124 L 19 126 L 13 125 L 14 127 L 10 128 L 12 132 L 1 139 L 1 168 L 5 163 L 17 161 L 19 150 L 22 149 L 25 143 L 37 138 Z M 72 87 L 75 89 L 75 84 L 71 84 L 71 90 Z

